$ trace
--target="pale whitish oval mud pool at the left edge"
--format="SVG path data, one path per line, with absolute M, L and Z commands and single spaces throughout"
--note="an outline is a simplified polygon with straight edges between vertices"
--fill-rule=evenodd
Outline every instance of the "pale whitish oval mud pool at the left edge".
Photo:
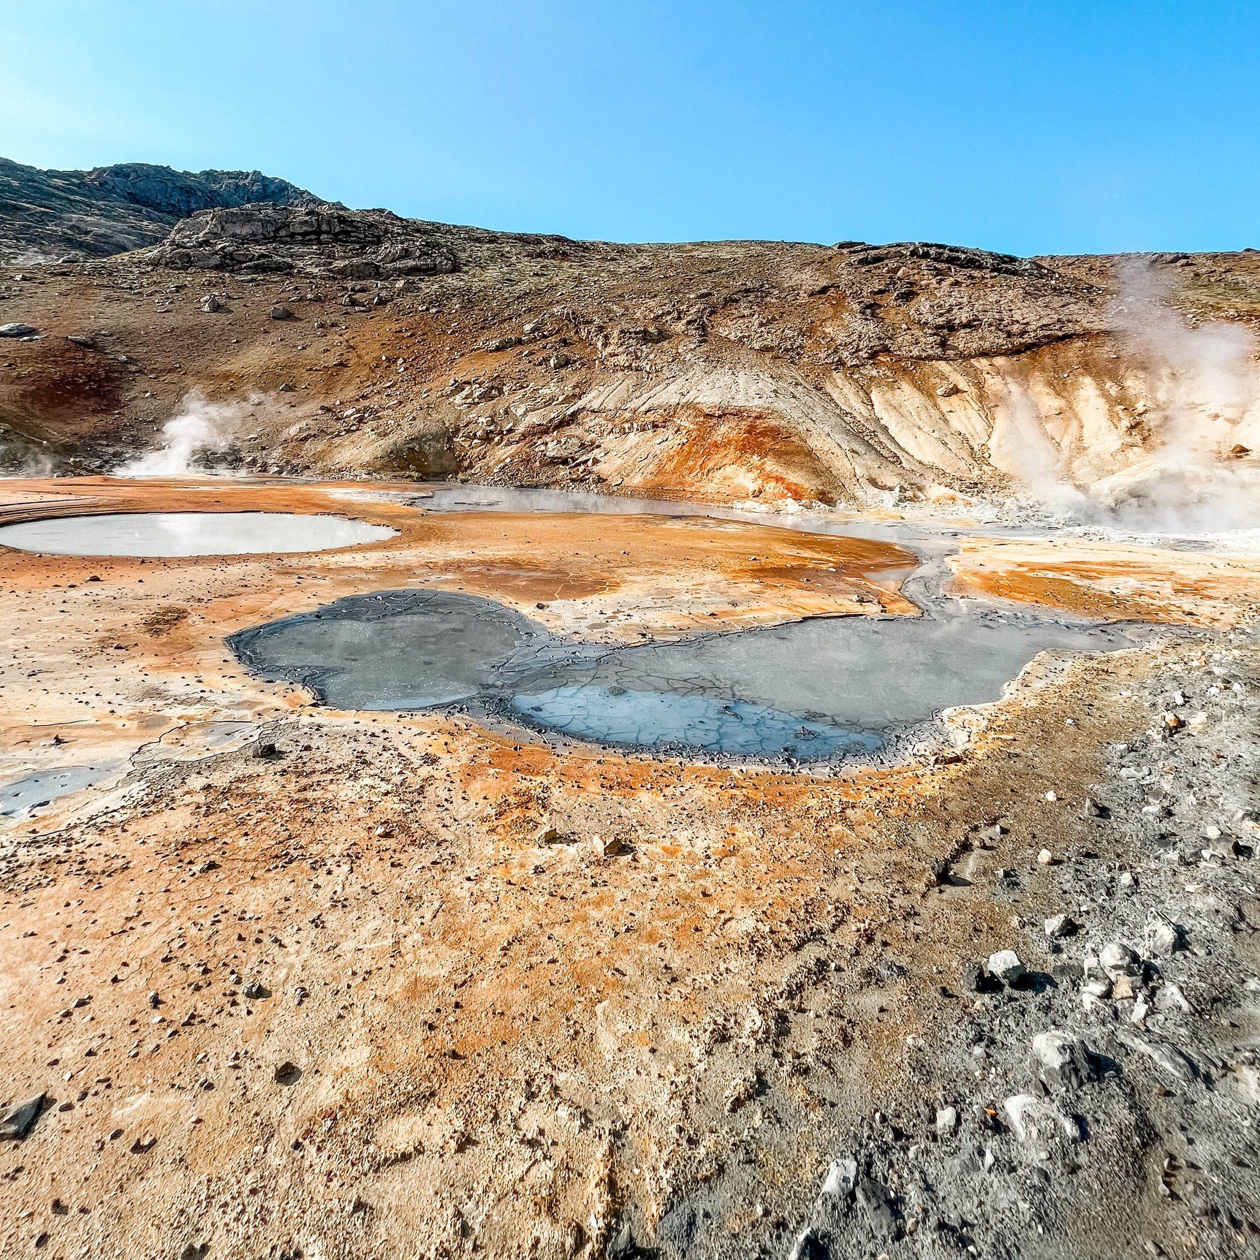
M 45 556 L 249 556 L 333 551 L 393 533 L 289 512 L 123 512 L 0 525 L 0 546 Z

